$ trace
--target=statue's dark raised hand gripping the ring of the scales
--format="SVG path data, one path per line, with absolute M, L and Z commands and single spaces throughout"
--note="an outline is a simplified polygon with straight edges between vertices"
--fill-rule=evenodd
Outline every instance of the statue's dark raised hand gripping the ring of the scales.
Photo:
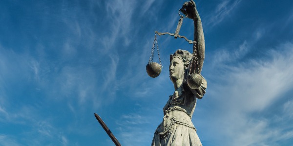
M 193 0 L 185 2 L 182 8 L 180 9 L 180 11 L 188 18 L 191 18 L 191 19 L 197 18 L 196 5 Z

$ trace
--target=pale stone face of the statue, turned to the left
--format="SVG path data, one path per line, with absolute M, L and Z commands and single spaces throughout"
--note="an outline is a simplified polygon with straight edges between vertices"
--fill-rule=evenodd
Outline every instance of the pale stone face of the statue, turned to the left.
M 170 73 L 171 80 L 175 81 L 177 79 L 183 79 L 184 70 L 185 68 L 183 65 L 183 61 L 179 59 L 178 57 L 173 58 L 169 66 L 169 73 Z

